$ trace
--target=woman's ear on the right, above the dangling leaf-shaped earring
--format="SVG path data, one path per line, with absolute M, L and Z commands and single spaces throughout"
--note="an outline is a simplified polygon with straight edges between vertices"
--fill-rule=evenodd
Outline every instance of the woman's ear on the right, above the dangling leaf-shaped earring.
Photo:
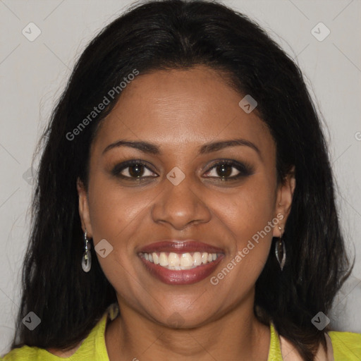
M 295 185 L 295 166 L 293 166 L 290 172 L 287 174 L 286 179 L 284 179 L 283 183 L 279 185 L 277 190 L 275 212 L 276 214 L 279 214 L 279 217 L 276 217 L 276 214 L 275 217 L 280 219 L 280 221 L 279 225 L 274 227 L 274 237 L 281 237 L 283 234 L 288 214 L 290 214 Z M 283 218 L 281 218 L 281 215 Z M 279 227 L 281 227 L 281 231 Z

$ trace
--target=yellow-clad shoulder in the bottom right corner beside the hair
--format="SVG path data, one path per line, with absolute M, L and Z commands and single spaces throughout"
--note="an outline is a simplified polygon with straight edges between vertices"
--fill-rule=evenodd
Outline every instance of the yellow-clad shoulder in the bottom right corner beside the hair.
M 338 331 L 330 331 L 327 334 L 331 338 L 335 361 L 361 360 L 361 334 Z

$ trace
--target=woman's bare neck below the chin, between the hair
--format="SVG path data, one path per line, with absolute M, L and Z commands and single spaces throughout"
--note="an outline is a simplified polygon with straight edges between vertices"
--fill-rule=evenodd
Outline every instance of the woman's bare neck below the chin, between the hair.
M 121 316 L 106 328 L 110 361 L 267 361 L 269 327 L 257 321 L 252 304 L 189 329 L 161 325 L 125 303 L 118 301 L 118 305 Z

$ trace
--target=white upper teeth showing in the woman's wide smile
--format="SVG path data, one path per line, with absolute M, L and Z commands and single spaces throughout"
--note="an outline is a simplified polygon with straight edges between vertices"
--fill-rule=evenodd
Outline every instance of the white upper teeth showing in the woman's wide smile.
M 147 261 L 167 269 L 192 269 L 200 266 L 200 264 L 207 264 L 216 260 L 216 253 L 208 252 L 192 252 L 192 253 L 174 253 L 174 252 L 152 252 L 141 253 L 142 257 Z

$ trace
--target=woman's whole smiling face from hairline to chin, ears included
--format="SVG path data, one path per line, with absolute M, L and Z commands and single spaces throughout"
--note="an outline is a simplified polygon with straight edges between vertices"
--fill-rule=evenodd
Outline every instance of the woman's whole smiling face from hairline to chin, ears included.
M 274 140 L 243 97 L 203 66 L 140 74 L 99 128 L 80 215 L 121 307 L 183 327 L 252 307 L 294 181 L 277 185 Z

